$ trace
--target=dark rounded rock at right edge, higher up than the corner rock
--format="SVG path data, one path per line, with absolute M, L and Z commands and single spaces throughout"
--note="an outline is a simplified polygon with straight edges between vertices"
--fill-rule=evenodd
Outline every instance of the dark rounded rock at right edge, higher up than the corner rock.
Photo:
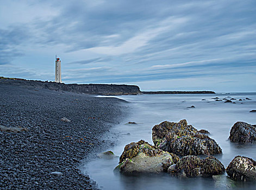
M 256 125 L 236 122 L 230 130 L 229 140 L 236 143 L 256 143 Z

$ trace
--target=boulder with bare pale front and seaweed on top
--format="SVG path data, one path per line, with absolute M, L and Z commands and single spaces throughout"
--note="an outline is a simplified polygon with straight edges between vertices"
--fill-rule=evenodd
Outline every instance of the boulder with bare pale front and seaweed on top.
M 167 172 L 168 167 L 178 161 L 177 155 L 167 153 L 141 140 L 124 147 L 115 171 L 127 174 Z

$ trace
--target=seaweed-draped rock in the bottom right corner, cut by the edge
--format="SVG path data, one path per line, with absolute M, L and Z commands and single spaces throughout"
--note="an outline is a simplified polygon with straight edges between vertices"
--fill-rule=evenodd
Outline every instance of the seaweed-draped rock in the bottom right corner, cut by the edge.
M 256 181 L 256 161 L 248 157 L 236 156 L 226 170 L 235 181 Z

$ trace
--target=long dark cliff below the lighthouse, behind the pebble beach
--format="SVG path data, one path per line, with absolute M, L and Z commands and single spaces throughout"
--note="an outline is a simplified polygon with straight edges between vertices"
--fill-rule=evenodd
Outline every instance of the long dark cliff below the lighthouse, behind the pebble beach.
M 12 84 L 30 88 L 48 88 L 49 90 L 68 91 L 99 95 L 137 95 L 141 94 L 139 86 L 107 84 L 64 84 L 38 80 L 0 78 L 2 84 Z

